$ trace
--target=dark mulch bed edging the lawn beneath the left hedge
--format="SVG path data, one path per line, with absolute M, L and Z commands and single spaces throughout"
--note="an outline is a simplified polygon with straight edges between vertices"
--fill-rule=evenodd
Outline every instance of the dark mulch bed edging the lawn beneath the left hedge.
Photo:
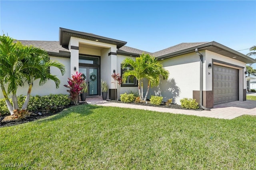
M 79 105 L 84 105 L 84 104 L 87 104 L 87 103 L 80 103 Z M 56 115 L 57 113 L 63 111 L 64 109 L 69 108 L 69 107 L 73 107 L 73 106 L 74 105 L 58 107 L 58 109 L 54 113 L 48 112 L 46 110 L 30 112 L 30 115 L 28 115 L 27 117 L 25 117 L 21 120 L 18 120 L 18 119 L 10 119 L 10 120 L 7 120 L 7 121 L 2 120 L 2 122 L 0 124 L 0 127 L 9 127 L 9 126 L 14 126 L 14 125 L 18 125 L 18 124 L 27 123 L 27 122 L 35 121 L 35 120 L 38 120 L 38 119 L 46 118 L 46 117 L 49 117 L 49 116 L 52 116 L 52 115 Z M 42 113 L 42 115 L 38 115 L 39 112 Z

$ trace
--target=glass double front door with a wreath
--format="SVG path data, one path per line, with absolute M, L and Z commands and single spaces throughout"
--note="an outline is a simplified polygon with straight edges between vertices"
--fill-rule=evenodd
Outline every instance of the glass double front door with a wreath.
M 98 68 L 79 67 L 79 72 L 85 76 L 85 81 L 88 85 L 88 96 L 99 95 L 99 74 Z

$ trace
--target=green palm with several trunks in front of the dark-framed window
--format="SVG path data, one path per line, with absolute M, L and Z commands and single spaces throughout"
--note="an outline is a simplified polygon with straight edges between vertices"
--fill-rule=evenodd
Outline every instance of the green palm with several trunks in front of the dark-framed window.
M 138 91 L 141 101 L 146 101 L 150 86 L 158 86 L 160 77 L 167 79 L 169 71 L 163 68 L 163 65 L 153 56 L 142 53 L 140 57 L 136 57 L 135 61 L 126 58 L 122 62 L 122 69 L 126 69 L 122 77 L 126 81 L 128 76 L 134 76 L 138 80 Z M 148 88 L 146 95 L 143 95 L 143 79 L 148 80 Z

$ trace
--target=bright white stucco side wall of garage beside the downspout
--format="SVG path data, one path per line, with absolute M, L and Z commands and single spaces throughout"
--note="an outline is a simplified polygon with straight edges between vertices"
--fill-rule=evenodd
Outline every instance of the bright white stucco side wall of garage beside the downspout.
M 200 53 L 205 56 L 204 51 Z M 164 101 L 172 98 L 174 103 L 180 104 L 182 98 L 193 98 L 193 90 L 200 90 L 200 57 L 190 53 L 160 62 L 170 72 L 170 76 L 167 80 L 161 80 L 158 87 L 150 89 L 148 99 L 151 95 L 159 95 L 164 97 Z

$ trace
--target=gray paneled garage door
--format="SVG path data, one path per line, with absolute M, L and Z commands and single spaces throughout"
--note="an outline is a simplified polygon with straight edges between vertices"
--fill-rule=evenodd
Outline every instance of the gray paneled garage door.
M 214 105 L 238 100 L 238 69 L 213 66 Z

